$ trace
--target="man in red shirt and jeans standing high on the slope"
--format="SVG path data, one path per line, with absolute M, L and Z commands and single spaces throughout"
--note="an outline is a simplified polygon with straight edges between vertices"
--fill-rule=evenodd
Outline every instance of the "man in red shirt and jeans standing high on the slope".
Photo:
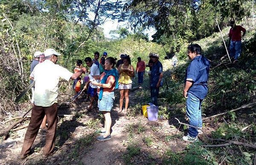
M 230 26 L 231 28 L 228 34 L 228 37 L 230 37 L 229 50 L 230 56 L 234 57 L 233 63 L 236 63 L 241 53 L 241 40 L 242 37 L 244 37 L 246 30 L 242 26 L 236 25 L 235 21 L 231 21 Z M 243 36 L 241 36 L 241 31 L 243 31 Z

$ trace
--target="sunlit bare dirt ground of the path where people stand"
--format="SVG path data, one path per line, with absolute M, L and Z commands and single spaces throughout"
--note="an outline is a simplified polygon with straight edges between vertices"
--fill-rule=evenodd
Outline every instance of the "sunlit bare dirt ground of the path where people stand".
M 130 107 L 144 102 L 143 99 L 137 98 L 135 93 L 136 91 L 131 92 Z M 17 159 L 26 133 L 26 129 L 21 129 L 11 132 L 9 138 L 0 143 L 0 164 L 164 164 L 164 153 L 167 150 L 183 151 L 188 144 L 182 140 L 183 126 L 179 127 L 173 119 L 171 122 L 167 119 L 152 122 L 142 115 L 128 117 L 118 113 L 119 93 L 116 93 L 111 113 L 112 138 L 97 141 L 103 117 L 96 108 L 96 102 L 91 112 L 86 110 L 87 105 L 88 102 L 84 102 L 82 97 L 76 105 L 64 105 L 59 108 L 58 114 L 61 117 L 56 133 L 55 153 L 47 159 L 42 157 L 41 151 L 46 133 L 41 131 L 32 145 L 32 154 L 24 160 Z M 17 116 L 21 114 L 20 112 Z M 4 125 L 3 130 L 12 122 Z M 28 122 L 29 120 L 23 125 Z

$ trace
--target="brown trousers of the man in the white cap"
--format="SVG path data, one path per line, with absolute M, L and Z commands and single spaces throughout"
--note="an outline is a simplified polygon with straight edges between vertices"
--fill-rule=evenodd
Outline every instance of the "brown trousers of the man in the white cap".
M 44 115 L 47 116 L 48 131 L 46 134 L 46 142 L 43 148 L 43 154 L 48 155 L 54 148 L 56 127 L 57 127 L 57 103 L 54 103 L 50 107 L 33 106 L 31 113 L 31 120 L 29 127 L 26 131 L 23 147 L 20 154 L 29 154 L 31 146 L 35 141 L 35 137 L 38 134 L 40 125 L 44 119 Z

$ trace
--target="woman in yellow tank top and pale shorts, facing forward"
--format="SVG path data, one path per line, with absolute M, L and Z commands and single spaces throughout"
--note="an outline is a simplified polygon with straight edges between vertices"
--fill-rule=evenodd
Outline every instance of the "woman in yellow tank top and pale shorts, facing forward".
M 131 89 L 132 80 L 131 77 L 134 77 L 134 67 L 130 64 L 131 59 L 129 56 L 125 56 L 123 59 L 123 64 L 119 65 L 118 73 L 119 73 L 119 86 L 118 89 L 120 90 L 120 110 L 122 111 L 122 105 L 124 102 L 125 97 L 125 111 L 128 109 L 129 104 L 129 91 Z

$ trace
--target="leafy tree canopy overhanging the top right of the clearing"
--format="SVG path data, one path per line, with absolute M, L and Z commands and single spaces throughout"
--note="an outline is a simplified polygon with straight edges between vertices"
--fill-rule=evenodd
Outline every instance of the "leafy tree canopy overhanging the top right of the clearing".
M 247 10 L 247 0 L 132 0 L 124 9 L 131 13 L 132 28 L 153 27 L 157 43 L 188 42 L 207 37 L 217 31 L 215 19 L 221 26 L 230 19 L 241 20 Z M 247 9 L 248 8 L 248 9 Z

